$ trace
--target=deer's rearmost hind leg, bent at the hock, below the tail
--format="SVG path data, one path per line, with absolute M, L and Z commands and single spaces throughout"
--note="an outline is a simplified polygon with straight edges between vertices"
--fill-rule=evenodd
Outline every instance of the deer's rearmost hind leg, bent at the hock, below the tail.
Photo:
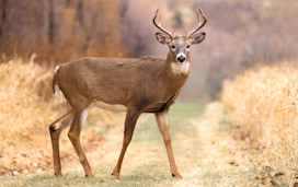
M 56 176 L 62 175 L 59 152 L 60 133 L 66 127 L 68 127 L 71 124 L 72 118 L 73 118 L 72 109 L 69 109 L 65 115 L 62 115 L 56 121 L 49 125 L 49 133 L 53 147 L 54 172 Z M 60 126 L 58 124 L 60 124 Z

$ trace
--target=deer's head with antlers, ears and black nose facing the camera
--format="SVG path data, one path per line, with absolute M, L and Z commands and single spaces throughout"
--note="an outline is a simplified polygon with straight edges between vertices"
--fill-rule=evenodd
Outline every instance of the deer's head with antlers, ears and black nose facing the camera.
M 196 9 L 196 15 L 198 19 L 198 25 L 192 32 L 187 33 L 185 31 L 184 36 L 174 35 L 174 32 L 169 32 L 163 28 L 160 24 L 161 15 L 159 22 L 157 23 L 158 12 L 157 10 L 156 15 L 153 17 L 153 24 L 162 31 L 162 33 L 156 33 L 157 40 L 160 44 L 167 44 L 169 47 L 169 56 L 171 60 L 174 62 L 183 63 L 184 61 L 190 61 L 190 50 L 191 46 L 195 44 L 199 44 L 205 38 L 205 33 L 197 33 L 199 28 L 202 28 L 206 24 L 206 17 L 200 9 Z M 200 16 L 203 17 L 203 23 L 200 23 Z

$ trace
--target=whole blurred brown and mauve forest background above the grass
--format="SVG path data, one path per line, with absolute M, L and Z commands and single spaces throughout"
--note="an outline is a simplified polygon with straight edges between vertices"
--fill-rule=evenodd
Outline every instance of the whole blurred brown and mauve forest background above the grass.
M 83 56 L 167 57 L 156 42 L 154 11 L 184 34 L 200 7 L 207 37 L 192 48 L 192 73 L 183 101 L 218 97 L 221 83 L 256 63 L 298 57 L 295 0 L 0 0 L 1 61 L 36 54 L 42 66 Z

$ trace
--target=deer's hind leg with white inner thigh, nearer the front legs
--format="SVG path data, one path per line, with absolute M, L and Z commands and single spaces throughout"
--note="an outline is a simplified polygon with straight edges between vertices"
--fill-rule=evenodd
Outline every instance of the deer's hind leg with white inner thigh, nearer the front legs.
M 69 137 L 78 156 L 79 156 L 79 160 L 84 168 L 84 173 L 85 173 L 87 177 L 93 177 L 94 175 L 92 173 L 92 170 L 89 165 L 89 162 L 88 162 L 85 154 L 83 152 L 83 149 L 81 147 L 80 133 L 81 133 L 81 129 L 85 122 L 89 110 L 91 109 L 92 106 L 93 106 L 93 104 L 89 105 L 88 107 L 85 107 L 82 110 L 80 109 L 74 113 L 73 121 L 72 121 L 71 127 L 68 132 L 68 137 Z

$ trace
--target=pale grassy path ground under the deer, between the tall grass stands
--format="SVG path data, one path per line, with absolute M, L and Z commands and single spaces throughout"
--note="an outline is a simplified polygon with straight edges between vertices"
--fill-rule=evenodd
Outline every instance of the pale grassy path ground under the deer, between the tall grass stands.
M 84 128 L 98 127 L 87 124 Z M 173 178 L 162 138 L 152 114 L 142 115 L 126 152 L 122 178 L 111 176 L 123 140 L 123 126 L 101 128 L 103 143 L 87 156 L 95 174 L 84 177 L 77 157 L 64 165 L 64 177 L 53 171 L 1 177 L 0 186 L 288 186 L 268 176 L 257 164 L 257 150 L 231 136 L 231 124 L 219 103 L 177 103 L 170 112 L 172 145 L 183 179 Z M 82 132 L 83 133 L 83 132 Z M 87 145 L 84 144 L 84 148 Z M 73 150 L 69 150 L 73 151 Z

